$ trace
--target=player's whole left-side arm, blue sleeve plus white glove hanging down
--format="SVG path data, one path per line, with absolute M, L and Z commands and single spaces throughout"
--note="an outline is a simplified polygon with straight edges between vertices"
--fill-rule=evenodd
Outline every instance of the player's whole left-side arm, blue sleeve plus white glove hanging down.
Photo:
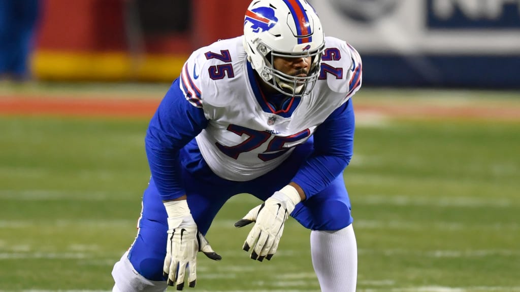
M 195 286 L 198 251 L 211 259 L 221 259 L 198 231 L 181 182 L 179 150 L 208 122 L 202 108 L 194 106 L 200 104 L 198 100 L 181 90 L 182 82 L 178 78 L 166 93 L 150 121 L 145 139 L 152 177 L 168 215 L 164 276 L 168 285 L 176 285 L 177 290 L 184 288 L 187 270 L 189 286 Z

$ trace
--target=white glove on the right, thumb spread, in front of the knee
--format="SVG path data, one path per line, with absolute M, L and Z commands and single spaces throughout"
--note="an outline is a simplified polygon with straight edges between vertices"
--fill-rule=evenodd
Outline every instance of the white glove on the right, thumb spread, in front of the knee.
M 283 223 L 294 210 L 301 197 L 294 187 L 286 185 L 275 192 L 264 204 L 254 207 L 241 220 L 235 223 L 235 227 L 243 227 L 251 222 L 256 222 L 242 249 L 251 252 L 251 258 L 263 261 L 270 260 L 278 249 L 280 237 L 283 234 Z

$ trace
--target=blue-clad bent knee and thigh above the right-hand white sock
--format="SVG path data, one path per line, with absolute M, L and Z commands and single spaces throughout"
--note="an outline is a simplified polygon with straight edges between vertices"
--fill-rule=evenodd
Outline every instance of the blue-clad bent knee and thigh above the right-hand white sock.
M 323 191 L 297 204 L 291 216 L 311 230 L 340 230 L 350 225 L 353 218 L 343 175 Z

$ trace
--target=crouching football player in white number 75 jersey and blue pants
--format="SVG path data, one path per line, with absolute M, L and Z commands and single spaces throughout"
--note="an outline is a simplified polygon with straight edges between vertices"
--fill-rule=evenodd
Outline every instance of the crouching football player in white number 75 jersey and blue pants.
M 243 244 L 252 259 L 276 254 L 292 216 L 311 230 L 321 290 L 355 291 L 342 172 L 360 86 L 358 52 L 325 37 L 305 0 L 254 0 L 244 35 L 194 51 L 149 124 L 151 179 L 137 237 L 114 265 L 113 291 L 194 287 L 198 251 L 220 259 L 204 234 L 239 193 L 263 201 L 235 223 L 253 223 Z

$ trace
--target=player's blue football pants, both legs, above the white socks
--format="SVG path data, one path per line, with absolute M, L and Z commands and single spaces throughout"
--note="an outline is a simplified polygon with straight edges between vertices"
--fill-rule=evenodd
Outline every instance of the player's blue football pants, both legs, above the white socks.
M 183 163 L 188 205 L 191 215 L 203 234 L 209 230 L 218 210 L 233 195 L 249 193 L 265 201 L 287 185 L 298 168 L 313 151 L 313 139 L 299 145 L 278 168 L 251 181 L 236 182 L 216 176 L 205 164 L 196 147 L 185 147 L 179 158 Z M 196 142 L 190 142 L 192 145 Z M 198 155 L 198 160 L 193 160 Z M 198 164 L 192 167 L 191 164 Z M 196 170 L 192 170 L 196 169 Z M 249 208 L 244 208 L 244 214 Z M 296 205 L 291 214 L 311 230 L 340 230 L 352 223 L 350 201 L 343 176 L 338 176 L 326 189 Z M 142 213 L 137 237 L 128 251 L 134 269 L 151 281 L 165 281 L 163 263 L 166 256 L 167 215 L 153 178 L 142 198 Z M 237 221 L 241 218 L 237 218 Z M 245 239 L 245 238 L 244 238 Z M 209 238 L 211 242 L 211 238 Z

